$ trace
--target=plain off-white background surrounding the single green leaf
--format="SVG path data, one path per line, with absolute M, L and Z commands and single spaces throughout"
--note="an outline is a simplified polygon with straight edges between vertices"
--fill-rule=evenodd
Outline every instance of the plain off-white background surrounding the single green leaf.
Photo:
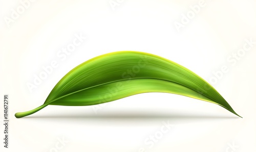
M 19 1 L 0 2 L 0 95 L 10 96 L 10 148 L 3 148 L 1 140 L 1 151 L 256 151 L 256 44 L 239 60 L 227 60 L 234 59 L 230 56 L 246 45 L 245 39 L 256 42 L 255 1 L 204 1 L 179 30 L 175 22 L 181 23 L 200 1 L 114 2 L 119 5 L 113 9 L 109 0 L 38 0 L 24 11 Z M 18 8 L 19 16 L 6 22 Z M 57 53 L 75 34 L 87 39 L 62 61 Z M 14 117 L 42 105 L 75 66 L 118 50 L 159 55 L 208 82 L 217 80 L 211 84 L 243 118 L 218 105 L 168 93 L 134 95 L 101 107 L 48 106 Z M 52 61 L 58 67 L 31 92 L 27 83 Z M 228 72 L 217 79 L 214 72 L 223 66 Z M 150 147 L 145 140 L 158 134 L 163 122 L 173 126 Z M 1 139 L 3 130 L 1 125 Z M 63 146 L 62 138 L 68 141 Z

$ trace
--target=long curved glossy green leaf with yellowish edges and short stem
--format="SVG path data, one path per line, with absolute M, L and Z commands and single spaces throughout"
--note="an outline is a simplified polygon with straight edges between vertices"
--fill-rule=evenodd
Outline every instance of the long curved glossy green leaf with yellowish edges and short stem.
M 44 105 L 15 116 L 30 115 L 48 105 L 97 105 L 145 92 L 193 97 L 238 115 L 214 87 L 187 68 L 156 55 L 122 51 L 78 65 L 56 84 Z

